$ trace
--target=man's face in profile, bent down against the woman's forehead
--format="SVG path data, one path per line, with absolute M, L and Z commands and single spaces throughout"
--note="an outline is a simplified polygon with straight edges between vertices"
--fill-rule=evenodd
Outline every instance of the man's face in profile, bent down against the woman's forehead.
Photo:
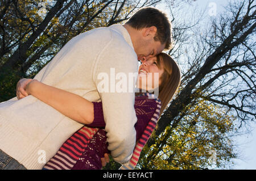
M 138 60 L 141 60 L 143 57 L 147 60 L 163 51 L 165 44 L 154 40 L 156 31 L 155 27 L 143 28 L 141 39 L 138 41 L 137 47 L 135 48 Z

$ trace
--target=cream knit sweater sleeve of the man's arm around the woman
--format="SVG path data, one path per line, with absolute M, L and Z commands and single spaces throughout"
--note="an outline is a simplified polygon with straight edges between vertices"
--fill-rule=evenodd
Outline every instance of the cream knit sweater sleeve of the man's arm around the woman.
M 110 41 L 98 56 L 93 72 L 102 101 L 108 149 L 114 161 L 121 164 L 130 160 L 136 142 L 135 81 L 130 83 L 127 79 L 130 73 L 137 71 L 138 61 L 134 50 L 126 42 Z M 122 84 L 122 79 L 115 80 L 118 75 L 119 79 L 123 78 L 122 86 L 126 90 L 117 89 L 120 82 Z

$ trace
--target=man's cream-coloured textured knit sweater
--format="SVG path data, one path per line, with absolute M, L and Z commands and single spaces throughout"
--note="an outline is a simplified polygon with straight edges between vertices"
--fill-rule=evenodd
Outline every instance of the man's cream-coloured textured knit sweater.
M 135 96 L 129 91 L 98 91 L 97 86 L 102 81 L 98 75 L 101 73 L 108 75 L 109 87 L 113 86 L 115 80 L 111 80 L 111 68 L 115 74 L 125 73 L 127 77 L 138 70 L 130 35 L 117 24 L 73 37 L 35 79 L 91 102 L 102 100 L 108 149 L 115 161 L 125 163 L 131 158 L 135 146 Z M 0 103 L 0 149 L 27 169 L 42 169 L 82 126 L 32 95 Z

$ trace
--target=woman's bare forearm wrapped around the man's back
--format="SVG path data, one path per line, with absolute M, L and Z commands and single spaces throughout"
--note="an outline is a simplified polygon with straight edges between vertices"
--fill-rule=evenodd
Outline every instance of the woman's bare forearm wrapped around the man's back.
M 35 79 L 26 85 L 26 92 L 79 123 L 93 122 L 93 103 L 79 95 L 48 86 Z

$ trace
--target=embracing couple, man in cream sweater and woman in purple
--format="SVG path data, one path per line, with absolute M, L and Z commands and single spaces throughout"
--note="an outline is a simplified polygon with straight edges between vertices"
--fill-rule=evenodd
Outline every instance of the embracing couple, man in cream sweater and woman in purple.
M 109 154 L 121 169 L 134 169 L 179 87 L 179 67 L 162 53 L 171 47 L 171 24 L 152 7 L 123 25 L 73 37 L 34 79 L 18 82 L 15 98 L 0 103 L 0 169 L 101 169 Z M 132 92 L 98 90 L 98 75 L 110 77 L 111 69 L 138 73 Z

